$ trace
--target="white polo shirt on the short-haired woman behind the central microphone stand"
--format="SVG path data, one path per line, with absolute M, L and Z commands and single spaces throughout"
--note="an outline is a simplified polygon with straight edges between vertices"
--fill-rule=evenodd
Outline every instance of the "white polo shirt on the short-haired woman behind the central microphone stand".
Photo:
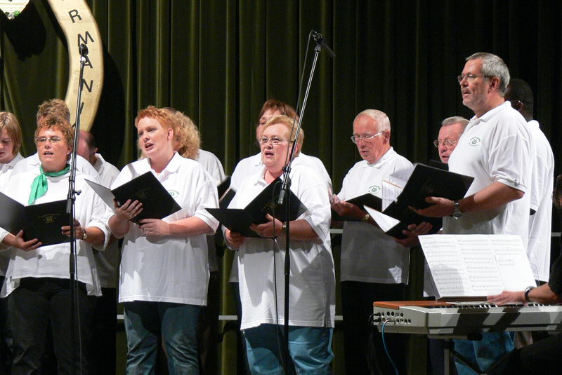
M 263 179 L 264 171 L 247 177 L 240 184 L 229 207 L 246 207 L 265 189 L 268 184 Z M 334 327 L 335 278 L 327 189 L 316 172 L 304 165 L 292 168 L 291 180 L 291 190 L 307 207 L 299 219 L 305 219 L 311 225 L 318 234 L 318 240 L 291 241 L 289 325 Z M 284 324 L 285 236 L 278 237 L 276 243 L 264 238 L 245 238 L 237 251 L 242 300 L 241 329 L 277 324 L 275 300 L 279 324 Z M 280 250 L 274 250 L 274 246 Z

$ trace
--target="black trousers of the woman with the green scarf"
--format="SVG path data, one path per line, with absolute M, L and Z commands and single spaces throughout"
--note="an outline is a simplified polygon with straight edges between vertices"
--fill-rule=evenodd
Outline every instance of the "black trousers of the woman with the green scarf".
M 49 325 L 53 330 L 58 374 L 70 375 L 74 374 L 74 369 L 79 369 L 79 342 L 83 374 L 88 373 L 95 297 L 87 296 L 86 285 L 81 282 L 78 284 L 79 324 L 75 322 L 74 337 L 70 280 L 23 278 L 20 286 L 8 296 L 8 313 L 13 329 L 13 375 L 41 374 Z

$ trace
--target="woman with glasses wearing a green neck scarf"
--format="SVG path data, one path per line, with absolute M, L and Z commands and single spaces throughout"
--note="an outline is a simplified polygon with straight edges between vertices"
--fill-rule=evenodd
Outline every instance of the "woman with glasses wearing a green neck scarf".
M 73 138 L 72 127 L 65 118 L 42 118 L 35 132 L 41 164 L 34 170 L 12 175 L 3 193 L 22 205 L 65 200 L 70 175 L 68 155 L 72 151 Z M 2 295 L 8 295 L 13 329 L 12 374 L 41 371 L 49 326 L 53 330 L 58 372 L 72 374 L 74 369 L 79 368 L 84 374 L 88 372 L 93 296 L 101 295 L 92 246 L 103 250 L 110 231 L 105 225 L 109 217 L 107 206 L 89 188 L 84 177 L 91 178 L 77 172 L 76 189 L 81 193 L 77 195 L 75 206 L 79 306 L 76 336 L 72 336 L 68 280 L 70 244 L 41 246 L 37 238 L 24 240 L 22 231 L 16 236 L 0 231 L 2 246 L 13 247 L 2 290 Z M 60 230 L 70 236 L 70 226 L 63 226 Z M 81 362 L 78 348 L 81 348 Z

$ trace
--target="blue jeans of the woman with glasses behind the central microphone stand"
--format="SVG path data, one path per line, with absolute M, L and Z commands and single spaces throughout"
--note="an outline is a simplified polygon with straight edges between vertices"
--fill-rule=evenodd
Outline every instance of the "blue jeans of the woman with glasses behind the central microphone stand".
M 277 340 L 277 328 L 280 336 Z M 282 326 L 260 325 L 244 329 L 251 374 L 285 374 L 282 369 Z M 329 364 L 332 353 L 333 328 L 289 327 L 289 352 L 299 375 L 332 374 Z M 289 371 L 289 374 L 292 372 Z

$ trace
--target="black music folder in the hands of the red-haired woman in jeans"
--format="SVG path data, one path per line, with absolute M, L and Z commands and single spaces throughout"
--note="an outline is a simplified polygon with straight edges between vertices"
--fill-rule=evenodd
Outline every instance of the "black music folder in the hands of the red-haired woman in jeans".
M 143 203 L 141 213 L 131 219 L 135 224 L 139 224 L 139 221 L 142 219 L 163 219 L 181 210 L 176 200 L 170 196 L 164 186 L 152 175 L 152 172 L 146 172 L 135 177 L 113 190 L 88 179 L 86 179 L 86 182 L 93 191 L 96 191 L 105 204 L 111 208 L 114 207 L 114 199 L 117 200 L 118 205 L 122 205 L 128 199 L 131 202 L 138 200 Z

